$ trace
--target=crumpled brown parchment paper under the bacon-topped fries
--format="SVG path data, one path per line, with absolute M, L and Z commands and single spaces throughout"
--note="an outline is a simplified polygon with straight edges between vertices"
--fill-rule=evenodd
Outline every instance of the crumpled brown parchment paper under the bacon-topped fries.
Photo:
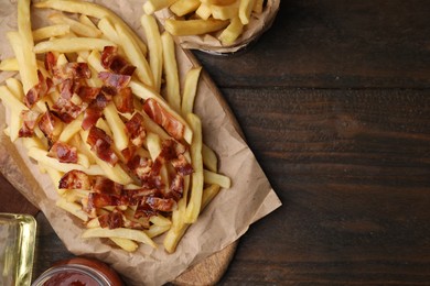
M 140 15 L 142 1 L 97 0 L 115 12 L 141 36 Z M 33 11 L 33 29 L 42 24 L 46 11 Z M 12 56 L 6 32 L 17 30 L 15 0 L 4 1 L 0 8 L 0 58 Z M 181 74 L 195 61 L 178 47 Z M 11 76 L 0 73 L 0 80 Z M 2 130 L 8 111 L 0 108 L 0 164 L 1 172 L 30 201 L 46 216 L 65 246 L 76 255 L 94 256 L 109 263 L 128 285 L 161 285 L 173 280 L 191 265 L 221 251 L 236 241 L 256 220 L 281 206 L 255 156 L 239 134 L 238 127 L 225 101 L 212 80 L 204 75 L 198 86 L 195 112 L 201 116 L 204 142 L 219 157 L 219 172 L 233 180 L 230 189 L 222 190 L 204 210 L 197 222 L 189 228 L 176 252 L 166 254 L 162 246 L 153 250 L 141 245 L 135 253 L 127 253 L 106 243 L 106 240 L 80 239 L 82 222 L 55 207 L 57 198 L 46 174 L 26 156 L 18 140 L 9 142 Z M 104 242 L 104 243 L 101 243 Z M 162 238 L 155 239 L 162 243 Z

